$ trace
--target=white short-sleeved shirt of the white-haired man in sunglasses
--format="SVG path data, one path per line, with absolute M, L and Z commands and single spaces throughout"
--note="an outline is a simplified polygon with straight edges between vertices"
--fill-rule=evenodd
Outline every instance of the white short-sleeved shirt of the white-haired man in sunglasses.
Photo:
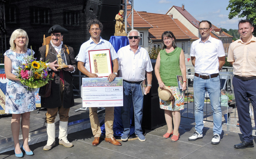
M 119 77 L 130 82 L 139 82 L 145 79 L 147 72 L 153 71 L 150 57 L 146 49 L 138 46 L 137 51 L 132 51 L 130 45 L 118 50 Z

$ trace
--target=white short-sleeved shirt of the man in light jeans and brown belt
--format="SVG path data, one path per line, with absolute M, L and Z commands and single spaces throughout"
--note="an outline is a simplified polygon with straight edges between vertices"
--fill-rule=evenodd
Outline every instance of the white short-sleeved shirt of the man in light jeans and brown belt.
M 219 73 L 218 57 L 225 56 L 222 41 L 211 36 L 205 42 L 201 39 L 191 44 L 190 56 L 195 56 L 195 73 L 208 76 Z

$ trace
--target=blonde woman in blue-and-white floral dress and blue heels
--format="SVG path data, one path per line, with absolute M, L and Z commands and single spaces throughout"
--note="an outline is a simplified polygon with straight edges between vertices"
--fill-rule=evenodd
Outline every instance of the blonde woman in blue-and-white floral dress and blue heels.
M 35 93 L 28 91 L 15 72 L 24 61 L 24 57 L 34 54 L 31 49 L 27 49 L 28 35 L 22 29 L 15 30 L 10 37 L 10 49 L 4 53 L 5 75 L 8 78 L 6 85 L 5 113 L 11 113 L 11 128 L 14 140 L 14 152 L 17 157 L 23 157 L 23 152 L 19 145 L 19 125 L 21 125 L 23 144 L 22 149 L 27 155 L 33 155 L 28 146 L 29 118 L 30 111 L 36 109 Z M 20 124 L 20 117 L 21 124 Z

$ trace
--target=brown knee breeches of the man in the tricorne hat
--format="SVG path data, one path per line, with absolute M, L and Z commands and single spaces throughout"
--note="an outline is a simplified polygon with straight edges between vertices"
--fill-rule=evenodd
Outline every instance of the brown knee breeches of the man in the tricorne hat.
M 61 94 L 61 101 L 63 101 L 63 96 L 64 96 L 64 84 L 62 81 L 60 81 L 60 94 Z M 47 123 L 54 123 L 54 120 L 58 114 L 59 111 L 59 116 L 60 116 L 60 121 L 68 121 L 68 113 L 69 113 L 70 108 L 63 108 L 63 103 L 61 107 L 57 108 L 47 108 L 47 112 L 45 113 L 46 117 L 45 120 Z

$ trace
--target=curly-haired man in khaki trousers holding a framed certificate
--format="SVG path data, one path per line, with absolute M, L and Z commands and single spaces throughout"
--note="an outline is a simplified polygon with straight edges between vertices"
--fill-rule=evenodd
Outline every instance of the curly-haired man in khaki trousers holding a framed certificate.
M 112 82 L 114 78 L 117 76 L 118 71 L 118 56 L 115 52 L 115 49 L 111 45 L 110 42 L 102 39 L 100 37 L 100 33 L 103 29 L 103 25 L 97 19 L 91 19 L 87 25 L 87 29 L 91 34 L 91 38 L 81 45 L 79 54 L 78 54 L 78 69 L 88 77 L 101 77 L 105 76 L 104 74 L 108 73 L 108 80 Z M 100 53 L 102 50 L 109 50 L 110 58 L 113 62 L 113 73 L 111 70 L 102 68 L 101 65 L 106 66 L 104 64 L 107 60 L 104 59 L 107 53 Z M 98 51 L 98 54 L 93 54 L 92 52 Z M 91 54 L 90 54 L 91 52 Z M 96 60 L 90 60 L 90 58 Z M 105 58 L 106 59 L 106 58 Z M 103 71 L 102 71 L 103 70 Z M 99 76 L 98 76 L 99 75 Z M 90 122 L 92 133 L 94 136 L 94 140 L 92 142 L 93 146 L 99 145 L 99 138 L 101 135 L 100 122 L 97 113 L 97 107 L 90 107 Z M 113 121 L 114 121 L 114 107 L 105 107 L 105 130 L 106 130 L 106 138 L 105 142 L 112 143 L 113 145 L 122 145 L 120 142 L 116 141 L 113 133 Z

